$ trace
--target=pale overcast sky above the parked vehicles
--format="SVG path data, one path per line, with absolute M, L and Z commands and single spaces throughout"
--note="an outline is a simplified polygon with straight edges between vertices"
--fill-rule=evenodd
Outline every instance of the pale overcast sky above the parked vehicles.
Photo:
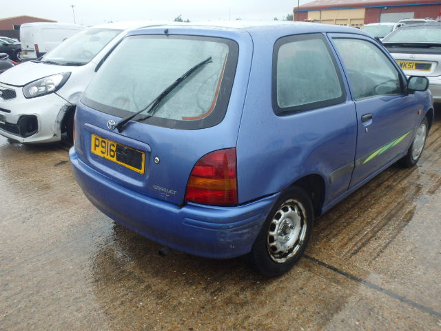
M 91 26 L 107 21 L 172 20 L 179 14 L 190 21 L 282 19 L 298 0 L 3 0 L 0 18 L 30 15 Z M 300 0 L 300 6 L 311 0 Z M 3 4 L 4 5 L 4 4 Z

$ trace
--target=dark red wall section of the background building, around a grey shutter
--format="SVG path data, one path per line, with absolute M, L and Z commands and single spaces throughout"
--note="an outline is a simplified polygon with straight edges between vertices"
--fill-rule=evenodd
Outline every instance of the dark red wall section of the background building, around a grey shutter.
M 440 14 L 441 5 L 423 5 L 423 6 L 400 6 L 384 8 L 366 8 L 365 24 L 380 22 L 380 15 L 382 13 L 396 13 L 396 12 L 415 12 L 414 19 L 425 19 L 431 17 L 436 19 Z

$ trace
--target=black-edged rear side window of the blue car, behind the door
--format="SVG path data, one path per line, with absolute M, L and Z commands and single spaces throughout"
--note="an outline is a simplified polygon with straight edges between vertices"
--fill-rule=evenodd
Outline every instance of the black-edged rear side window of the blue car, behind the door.
M 322 34 L 279 39 L 273 54 L 273 106 L 287 114 L 345 101 L 340 72 Z

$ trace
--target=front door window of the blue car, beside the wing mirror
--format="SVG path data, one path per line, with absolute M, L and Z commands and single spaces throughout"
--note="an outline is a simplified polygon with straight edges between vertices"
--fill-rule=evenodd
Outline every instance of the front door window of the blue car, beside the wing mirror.
M 334 39 L 356 100 L 376 95 L 400 94 L 400 74 L 384 53 L 369 41 Z

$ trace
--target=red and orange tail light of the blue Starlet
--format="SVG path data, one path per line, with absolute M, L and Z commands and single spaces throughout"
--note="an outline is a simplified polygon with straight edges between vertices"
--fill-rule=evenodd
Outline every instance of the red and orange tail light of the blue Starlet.
M 203 156 L 190 174 L 185 201 L 203 205 L 237 205 L 236 148 Z

